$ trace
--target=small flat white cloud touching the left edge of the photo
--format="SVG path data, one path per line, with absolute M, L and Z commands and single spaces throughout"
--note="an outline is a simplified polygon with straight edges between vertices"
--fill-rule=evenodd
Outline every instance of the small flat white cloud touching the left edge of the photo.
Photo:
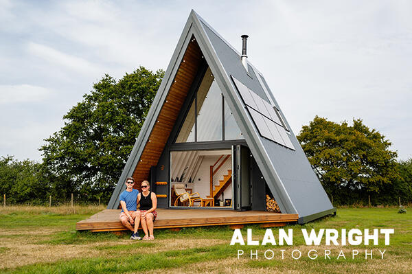
M 41 102 L 51 93 L 49 89 L 30 84 L 0 85 L 0 104 Z

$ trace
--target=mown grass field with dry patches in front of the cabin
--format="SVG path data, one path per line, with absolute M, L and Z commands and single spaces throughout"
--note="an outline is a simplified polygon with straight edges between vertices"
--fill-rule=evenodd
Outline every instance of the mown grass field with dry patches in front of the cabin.
M 337 216 L 306 225 L 290 225 L 293 246 L 230 246 L 233 230 L 228 227 L 155 231 L 154 241 L 130 241 L 129 233 L 76 232 L 78 220 L 104 207 L 1 207 L 0 273 L 412 273 L 412 208 L 398 214 L 392 208 L 340 208 Z M 266 229 L 253 229 L 253 239 L 262 240 Z M 385 246 L 307 247 L 301 229 L 393 228 L 391 244 Z M 273 228 L 277 236 L 277 228 Z M 237 258 L 238 249 L 244 255 Z M 258 259 L 250 251 L 258 249 Z M 272 260 L 264 251 L 273 250 Z M 284 259 L 281 250 L 284 249 Z M 299 260 L 291 252 L 299 249 Z M 316 249 L 319 257 L 308 258 Z M 330 260 L 324 250 L 330 249 Z M 352 249 L 360 253 L 352 260 Z M 373 258 L 365 260 L 365 249 Z M 381 259 L 378 251 L 386 250 Z M 346 260 L 337 259 L 343 251 Z M 296 253 L 295 253 L 296 255 Z M 271 253 L 268 253 L 271 256 Z

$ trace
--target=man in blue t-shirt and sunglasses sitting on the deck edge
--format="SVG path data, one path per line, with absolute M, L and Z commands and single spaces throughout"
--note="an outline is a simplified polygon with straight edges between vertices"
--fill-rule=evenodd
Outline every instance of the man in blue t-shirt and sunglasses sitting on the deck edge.
M 141 240 L 137 229 L 140 224 L 140 212 L 137 211 L 137 194 L 139 190 L 133 189 L 135 185 L 135 180 L 132 177 L 126 179 L 126 190 L 120 194 L 120 205 L 122 205 L 122 212 L 120 212 L 120 220 L 122 224 L 133 231 L 130 240 Z M 133 227 L 133 225 L 135 227 Z

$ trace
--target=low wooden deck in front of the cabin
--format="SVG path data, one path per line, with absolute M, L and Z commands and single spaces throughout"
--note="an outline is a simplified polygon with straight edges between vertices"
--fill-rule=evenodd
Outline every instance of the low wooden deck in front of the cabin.
M 95 232 L 126 230 L 119 220 L 119 214 L 120 209 L 104 209 L 86 220 L 77 222 L 76 229 Z M 288 222 L 297 222 L 298 218 L 297 214 L 220 209 L 157 209 L 157 214 L 155 229 L 247 224 L 279 227 Z

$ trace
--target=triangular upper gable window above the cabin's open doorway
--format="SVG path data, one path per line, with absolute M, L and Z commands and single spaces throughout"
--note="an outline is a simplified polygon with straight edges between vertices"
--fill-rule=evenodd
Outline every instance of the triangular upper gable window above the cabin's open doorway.
M 222 108 L 222 104 L 224 104 Z M 224 112 L 222 113 L 222 109 Z M 223 134 L 225 128 L 225 134 Z M 201 81 L 176 143 L 244 139 L 210 68 Z

